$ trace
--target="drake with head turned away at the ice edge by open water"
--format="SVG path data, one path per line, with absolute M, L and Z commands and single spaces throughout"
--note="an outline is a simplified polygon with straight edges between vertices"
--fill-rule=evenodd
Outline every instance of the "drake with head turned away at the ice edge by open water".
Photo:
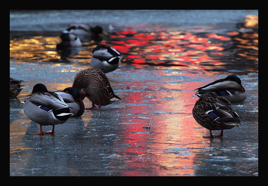
M 104 73 L 114 71 L 118 68 L 122 57 L 113 47 L 99 44 L 93 49 L 90 65 L 101 69 Z

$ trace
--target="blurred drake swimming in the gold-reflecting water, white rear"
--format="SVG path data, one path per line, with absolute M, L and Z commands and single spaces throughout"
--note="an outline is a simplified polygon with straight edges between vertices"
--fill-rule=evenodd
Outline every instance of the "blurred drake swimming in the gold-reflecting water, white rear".
M 80 39 L 74 34 L 69 34 L 66 30 L 64 30 L 59 36 L 59 43 L 57 44 L 57 48 L 81 46 L 82 42 Z

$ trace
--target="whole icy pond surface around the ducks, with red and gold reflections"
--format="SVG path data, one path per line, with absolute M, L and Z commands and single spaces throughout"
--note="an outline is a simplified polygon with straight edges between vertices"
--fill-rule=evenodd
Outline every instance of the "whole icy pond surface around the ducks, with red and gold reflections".
M 222 11 L 183 12 L 180 23 L 141 24 L 146 17 L 155 20 L 159 11 L 138 11 L 140 24 L 134 25 L 134 18 L 122 17 L 124 23 L 113 12 L 111 22 L 102 17 L 108 35 L 80 38 L 82 47 L 64 51 L 56 50 L 56 43 L 67 25 L 60 22 L 65 11 L 11 12 L 10 77 L 24 80 L 26 88 L 10 98 L 10 175 L 258 175 L 258 18 L 247 14 L 240 20 L 237 11 L 228 11 L 236 15 L 222 23 L 224 18 L 217 16 Z M 81 21 L 88 14 L 83 15 Z M 171 11 L 162 17 L 167 15 L 178 16 Z M 47 24 L 39 24 L 45 22 L 42 16 Z M 198 16 L 207 22 L 194 19 Z M 209 18 L 215 24 L 208 24 Z M 13 20 L 20 30 L 14 30 Z M 53 135 L 32 135 L 39 125 L 26 117 L 20 101 L 36 83 L 48 90 L 72 86 L 76 73 L 90 67 L 92 50 L 100 43 L 122 55 L 119 68 L 107 73 L 122 100 L 56 125 Z M 205 139 L 209 131 L 192 117 L 194 89 L 231 74 L 240 77 L 248 94 L 244 102 L 233 104 L 243 125 L 225 130 L 221 138 Z M 85 99 L 84 104 L 90 107 L 91 102 Z

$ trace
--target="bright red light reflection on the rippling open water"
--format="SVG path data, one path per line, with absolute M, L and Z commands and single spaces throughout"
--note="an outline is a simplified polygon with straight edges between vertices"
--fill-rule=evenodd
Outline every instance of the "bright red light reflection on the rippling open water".
M 182 32 L 134 33 L 131 30 L 117 32 L 117 38 L 122 35 L 126 36 L 124 37 L 126 40 L 111 41 L 111 43 L 117 44 L 113 47 L 124 55 L 123 63 L 130 61 L 132 65 L 138 67 L 175 66 L 178 69 L 219 68 L 219 65 L 225 63 L 219 59 L 212 59 L 209 55 L 213 51 L 214 53 L 222 51 L 224 47 L 222 43 L 212 43 L 209 39 L 230 40 L 228 37 L 216 34 L 208 34 L 207 38 L 200 38 L 189 32 L 184 34 Z

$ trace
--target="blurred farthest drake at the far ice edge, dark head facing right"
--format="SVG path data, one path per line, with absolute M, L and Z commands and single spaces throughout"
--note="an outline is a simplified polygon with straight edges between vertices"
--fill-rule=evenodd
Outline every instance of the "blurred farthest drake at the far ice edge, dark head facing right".
M 77 36 L 99 36 L 103 33 L 103 28 L 100 26 L 91 27 L 88 24 L 71 24 L 67 29 L 68 33 Z

